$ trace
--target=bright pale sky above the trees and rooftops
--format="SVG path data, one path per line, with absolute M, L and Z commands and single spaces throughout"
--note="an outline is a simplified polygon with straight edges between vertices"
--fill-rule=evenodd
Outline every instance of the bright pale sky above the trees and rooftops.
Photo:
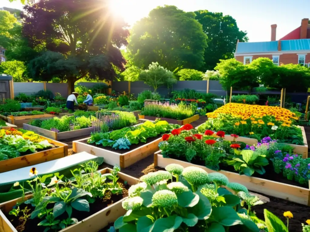
M 65 1 L 65 0 L 64 0 Z M 208 10 L 231 15 L 250 42 L 270 41 L 271 24 L 277 24 L 277 39 L 298 28 L 301 19 L 310 18 L 309 0 L 112 0 L 114 11 L 133 25 L 156 6 L 174 5 L 184 11 Z M 0 0 L 0 7 L 22 9 L 17 0 Z

